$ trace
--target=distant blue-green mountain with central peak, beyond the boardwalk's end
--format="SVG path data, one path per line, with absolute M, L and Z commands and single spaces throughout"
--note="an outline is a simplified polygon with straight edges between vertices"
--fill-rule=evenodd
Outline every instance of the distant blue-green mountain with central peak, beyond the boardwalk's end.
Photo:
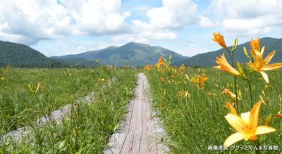
M 109 46 L 102 50 L 88 51 L 85 53 L 54 58 L 83 58 L 85 60 L 99 59 L 99 63 L 115 66 L 144 66 L 157 63 L 159 56 L 164 56 L 164 58 L 168 59 L 170 54 L 173 57 L 172 62 L 187 58 L 171 50 L 161 48 L 160 46 L 149 46 L 147 44 L 135 43 L 133 41 L 123 46 Z M 123 60 L 126 60 L 126 62 L 124 63 Z

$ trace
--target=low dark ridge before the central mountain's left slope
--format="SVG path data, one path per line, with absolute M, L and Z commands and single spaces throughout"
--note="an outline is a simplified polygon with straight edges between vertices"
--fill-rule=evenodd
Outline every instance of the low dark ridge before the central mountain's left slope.
M 69 63 L 71 65 L 82 65 L 87 67 L 97 67 L 100 64 L 93 60 L 85 60 L 83 58 L 51 58 L 53 60 L 59 61 L 61 63 Z

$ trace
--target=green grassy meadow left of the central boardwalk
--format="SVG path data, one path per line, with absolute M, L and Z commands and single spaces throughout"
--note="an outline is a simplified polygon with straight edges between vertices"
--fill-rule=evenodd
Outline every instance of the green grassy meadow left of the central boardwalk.
M 7 145 L 1 141 L 1 153 L 102 153 L 125 113 L 124 105 L 133 98 L 137 75 L 132 68 L 1 68 L 0 77 L 1 136 L 23 126 L 32 127 L 35 136 Z M 114 82 L 107 84 L 109 79 Z M 94 103 L 75 103 L 92 91 Z M 69 103 L 71 114 L 61 124 L 34 124 Z

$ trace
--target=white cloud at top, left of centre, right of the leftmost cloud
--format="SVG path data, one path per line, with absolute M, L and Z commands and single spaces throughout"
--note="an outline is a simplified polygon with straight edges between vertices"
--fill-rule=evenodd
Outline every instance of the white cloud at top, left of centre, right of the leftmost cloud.
M 61 0 L 61 2 L 75 20 L 75 34 L 92 36 L 118 34 L 128 29 L 124 20 L 130 13 L 120 11 L 120 0 Z

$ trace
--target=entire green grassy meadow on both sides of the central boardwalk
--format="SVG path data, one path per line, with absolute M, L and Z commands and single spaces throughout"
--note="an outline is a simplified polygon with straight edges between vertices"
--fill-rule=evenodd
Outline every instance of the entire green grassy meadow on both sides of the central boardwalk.
M 249 68 L 245 65 L 244 69 Z M 141 70 L 1 68 L 1 136 L 19 127 L 30 126 L 30 135 L 34 137 L 18 143 L 0 141 L 0 152 L 102 153 L 126 112 L 125 105 L 133 98 L 137 72 L 145 72 L 149 80 L 152 107 L 167 132 L 161 142 L 168 146 L 169 153 L 281 152 L 282 118 L 274 114 L 282 110 L 282 70 L 267 72 L 269 84 L 259 72 L 252 72 L 250 85 L 242 77 L 236 77 L 240 99 L 236 105 L 228 93 L 223 93 L 224 89 L 235 91 L 233 75 L 228 72 L 169 66 L 147 66 Z M 108 84 L 110 79 L 114 81 Z M 75 103 L 92 91 L 94 103 Z M 224 141 L 234 133 L 225 118 L 232 110 L 223 105 L 235 103 L 234 108 L 240 115 L 252 110 L 255 103 L 262 100 L 258 125 L 268 125 L 276 131 L 259 135 L 255 141 L 238 141 L 223 150 Z M 47 122 L 47 127 L 35 124 L 35 119 L 69 103 L 71 114 L 61 124 Z M 254 150 L 259 147 L 260 150 Z

